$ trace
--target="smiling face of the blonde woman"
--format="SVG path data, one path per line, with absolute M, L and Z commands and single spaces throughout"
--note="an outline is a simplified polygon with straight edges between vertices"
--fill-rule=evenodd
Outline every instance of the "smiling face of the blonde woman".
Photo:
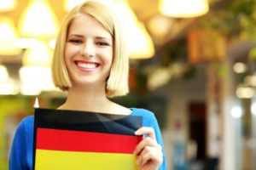
M 89 14 L 76 16 L 67 31 L 65 64 L 73 86 L 104 85 L 113 61 L 113 37 Z

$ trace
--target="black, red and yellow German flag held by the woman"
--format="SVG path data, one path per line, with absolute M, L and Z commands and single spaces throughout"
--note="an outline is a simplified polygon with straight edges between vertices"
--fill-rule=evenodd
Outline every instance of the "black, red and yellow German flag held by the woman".
M 136 170 L 141 116 L 36 109 L 34 170 Z

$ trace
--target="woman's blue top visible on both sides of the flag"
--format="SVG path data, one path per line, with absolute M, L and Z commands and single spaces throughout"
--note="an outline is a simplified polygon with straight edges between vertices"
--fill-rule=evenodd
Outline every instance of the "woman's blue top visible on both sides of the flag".
M 144 109 L 131 108 L 133 116 L 143 117 L 143 127 L 153 127 L 157 142 L 164 145 L 160 127 L 154 113 Z M 34 116 L 26 116 L 16 129 L 9 157 L 9 170 L 32 170 Z M 165 155 L 165 154 L 164 154 Z M 166 156 L 159 170 L 166 170 Z

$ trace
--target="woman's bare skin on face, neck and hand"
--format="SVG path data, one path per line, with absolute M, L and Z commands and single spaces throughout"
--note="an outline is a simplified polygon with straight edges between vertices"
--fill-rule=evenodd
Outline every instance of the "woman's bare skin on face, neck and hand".
M 108 99 L 105 87 L 113 62 L 113 37 L 89 14 L 80 14 L 67 32 L 65 64 L 72 82 L 67 100 L 58 109 L 95 111 L 108 114 L 129 115 L 131 110 Z M 89 66 L 84 64 L 90 64 Z M 101 105 L 101 107 L 98 107 Z M 134 154 L 143 170 L 155 170 L 162 162 L 162 150 L 157 144 L 154 129 L 141 127 L 137 135 L 148 135 Z

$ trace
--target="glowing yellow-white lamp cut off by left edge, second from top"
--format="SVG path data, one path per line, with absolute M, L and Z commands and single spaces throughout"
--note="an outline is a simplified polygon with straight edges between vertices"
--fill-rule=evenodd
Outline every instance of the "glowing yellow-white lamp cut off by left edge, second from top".
M 20 54 L 21 49 L 15 47 L 17 32 L 15 23 L 9 18 L 0 18 L 0 54 L 16 55 Z

